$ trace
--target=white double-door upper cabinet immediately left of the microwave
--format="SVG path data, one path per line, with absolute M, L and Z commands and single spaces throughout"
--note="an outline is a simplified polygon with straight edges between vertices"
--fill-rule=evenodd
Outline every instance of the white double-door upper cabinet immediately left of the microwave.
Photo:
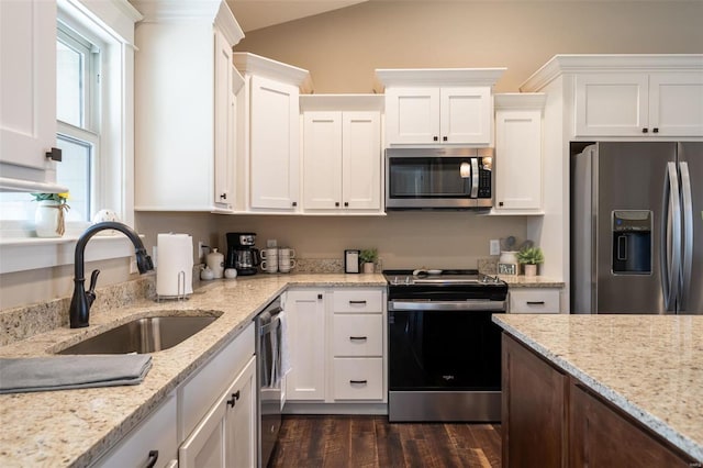
M 382 212 L 382 99 L 367 94 L 301 97 L 305 212 Z M 321 108 L 345 110 L 312 110 Z

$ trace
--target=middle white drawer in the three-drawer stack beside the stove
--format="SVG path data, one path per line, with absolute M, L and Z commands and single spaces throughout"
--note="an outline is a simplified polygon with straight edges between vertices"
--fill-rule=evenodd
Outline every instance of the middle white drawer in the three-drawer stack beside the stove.
M 332 343 L 334 356 L 382 356 L 383 315 L 335 314 Z

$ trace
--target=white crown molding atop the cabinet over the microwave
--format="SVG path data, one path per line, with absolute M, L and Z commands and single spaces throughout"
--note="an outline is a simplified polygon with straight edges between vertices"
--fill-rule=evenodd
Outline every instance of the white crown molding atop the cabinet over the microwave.
M 377 68 L 375 91 L 388 86 L 490 86 L 506 68 Z

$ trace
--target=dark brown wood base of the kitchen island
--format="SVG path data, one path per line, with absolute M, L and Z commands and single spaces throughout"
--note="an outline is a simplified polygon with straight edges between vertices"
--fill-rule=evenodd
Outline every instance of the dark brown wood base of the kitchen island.
M 700 466 L 503 334 L 503 467 Z

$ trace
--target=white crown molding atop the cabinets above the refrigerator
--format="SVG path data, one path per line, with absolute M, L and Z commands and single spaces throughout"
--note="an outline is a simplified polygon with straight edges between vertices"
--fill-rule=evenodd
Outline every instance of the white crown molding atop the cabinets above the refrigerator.
M 569 54 L 555 55 L 520 86 L 524 92 L 538 91 L 568 73 L 701 71 L 703 54 Z

